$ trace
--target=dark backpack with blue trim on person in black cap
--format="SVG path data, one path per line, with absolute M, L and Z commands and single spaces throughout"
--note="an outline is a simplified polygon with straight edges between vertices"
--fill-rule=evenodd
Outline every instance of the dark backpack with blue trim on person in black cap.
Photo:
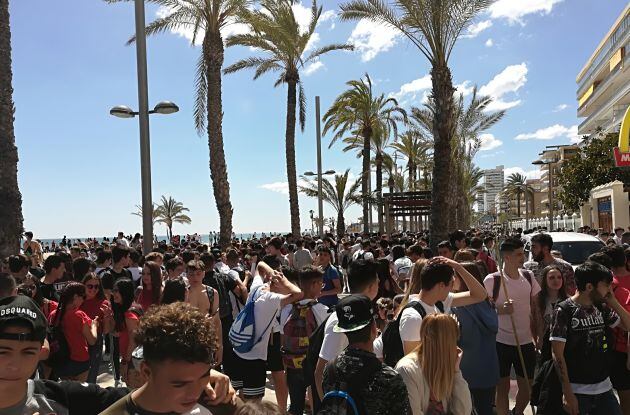
M 328 366 L 330 376 L 335 380 L 335 390 L 324 395 L 320 410 L 317 413 L 320 415 L 367 415 L 365 402 L 360 399 L 359 392 L 365 389 L 370 380 L 374 379 L 374 375 L 381 369 L 382 363 L 376 359 L 370 360 L 352 378 L 341 382 L 337 374 L 337 359 L 335 358 Z

